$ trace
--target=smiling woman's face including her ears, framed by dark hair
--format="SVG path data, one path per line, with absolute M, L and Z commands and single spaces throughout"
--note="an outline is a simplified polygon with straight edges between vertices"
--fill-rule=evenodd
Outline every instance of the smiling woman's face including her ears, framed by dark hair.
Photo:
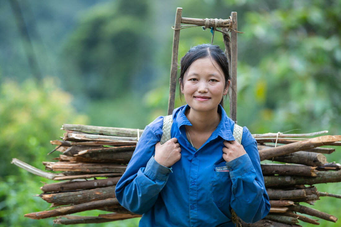
M 220 66 L 209 57 L 195 60 L 184 76 L 181 93 L 191 109 L 206 112 L 216 110 L 227 94 L 225 77 Z M 181 83 L 180 83 L 181 84 Z

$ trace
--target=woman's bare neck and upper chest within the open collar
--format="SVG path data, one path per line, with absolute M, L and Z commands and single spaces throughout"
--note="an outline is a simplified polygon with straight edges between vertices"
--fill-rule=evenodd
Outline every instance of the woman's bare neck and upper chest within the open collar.
M 191 122 L 191 129 L 197 132 L 214 131 L 218 126 L 221 116 L 218 113 L 218 106 L 210 111 L 199 112 L 189 108 L 185 113 L 189 122 Z

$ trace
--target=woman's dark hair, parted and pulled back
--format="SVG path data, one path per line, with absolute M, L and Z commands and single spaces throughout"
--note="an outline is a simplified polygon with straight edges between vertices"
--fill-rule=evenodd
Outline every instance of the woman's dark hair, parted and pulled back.
M 225 77 L 225 87 L 228 85 L 228 80 L 230 79 L 230 73 L 229 73 L 229 67 L 228 67 L 228 60 L 226 58 L 226 55 L 224 54 L 224 51 L 220 49 L 217 45 L 211 45 L 211 44 L 201 44 L 192 47 L 186 55 L 184 55 L 180 60 L 180 97 L 181 97 L 181 87 L 183 87 L 184 83 L 184 76 L 187 73 L 187 70 L 191 66 L 191 64 L 199 59 L 199 58 L 206 58 L 209 57 L 210 59 L 214 60 L 219 66 L 220 69 L 224 73 Z M 220 105 L 223 106 L 224 97 L 220 101 Z

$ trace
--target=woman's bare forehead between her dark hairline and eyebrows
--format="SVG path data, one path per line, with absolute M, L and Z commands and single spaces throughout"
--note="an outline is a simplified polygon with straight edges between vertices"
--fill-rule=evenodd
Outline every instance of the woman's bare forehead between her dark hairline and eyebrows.
M 223 76 L 223 71 L 219 64 L 210 57 L 199 58 L 192 62 L 187 70 L 187 74 L 210 73 Z

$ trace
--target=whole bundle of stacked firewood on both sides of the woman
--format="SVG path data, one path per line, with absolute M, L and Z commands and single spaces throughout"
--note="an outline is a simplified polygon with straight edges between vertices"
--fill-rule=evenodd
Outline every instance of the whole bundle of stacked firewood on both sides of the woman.
M 71 124 L 64 124 L 62 129 L 65 130 L 62 140 L 50 141 L 57 145 L 53 151 L 62 154 L 54 158 L 57 162 L 43 162 L 46 170 L 58 173 L 34 168 L 16 158 L 12 161 L 35 175 L 61 181 L 41 187 L 43 193 L 39 196 L 51 203 L 53 209 L 25 214 L 25 217 L 40 219 L 59 216 L 54 223 L 65 225 L 140 217 L 119 205 L 115 198 L 115 185 L 125 171 L 143 130 Z M 335 216 L 301 205 L 313 204 L 321 196 L 341 197 L 318 192 L 316 187 L 311 186 L 341 182 L 341 165 L 328 163 L 324 155 L 335 149 L 321 147 L 340 146 L 341 135 L 317 136 L 326 132 L 253 135 L 263 161 L 261 167 L 271 210 L 263 220 L 254 224 L 241 221 L 242 226 L 300 226 L 298 220 L 319 224 L 318 220 L 305 215 L 337 221 Z M 317 137 L 307 139 L 312 136 Z M 95 209 L 113 213 L 69 215 Z

